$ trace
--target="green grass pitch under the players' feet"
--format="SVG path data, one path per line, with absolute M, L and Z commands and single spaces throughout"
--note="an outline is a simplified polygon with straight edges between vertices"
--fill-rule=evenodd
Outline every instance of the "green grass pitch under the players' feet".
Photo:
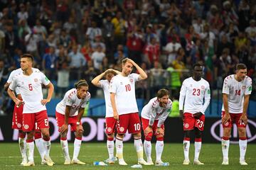
M 64 159 L 59 143 L 51 145 L 50 157 L 55 162 L 53 167 L 41 165 L 41 158 L 35 146 L 35 164 L 36 166 L 23 167 L 21 163 L 21 154 L 18 150 L 18 143 L 0 143 L 0 169 L 132 169 L 133 164 L 137 164 L 137 154 L 132 143 L 124 142 L 124 160 L 128 166 L 119 166 L 118 164 L 109 166 L 93 166 L 94 161 L 103 161 L 107 159 L 107 148 L 105 143 L 82 143 L 79 159 L 86 162 L 86 165 L 63 165 Z M 69 152 L 72 159 L 73 142 L 69 142 Z M 193 162 L 194 147 L 190 147 L 190 160 Z M 152 159 L 155 160 L 155 148 L 152 145 Z M 144 156 L 145 158 L 145 156 Z M 162 160 L 170 162 L 170 166 L 143 166 L 142 169 L 256 169 L 256 145 L 248 144 L 246 161 L 248 166 L 239 164 L 239 146 L 230 145 L 229 152 L 230 164 L 228 166 L 221 165 L 222 151 L 220 144 L 204 144 L 202 145 L 200 160 L 205 165 L 182 165 L 183 147 L 181 144 L 166 143 L 164 145 L 164 153 Z

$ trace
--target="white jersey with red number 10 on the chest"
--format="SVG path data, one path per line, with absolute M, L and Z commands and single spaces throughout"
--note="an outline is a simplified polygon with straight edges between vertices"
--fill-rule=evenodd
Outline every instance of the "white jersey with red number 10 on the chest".
M 110 81 L 110 93 L 115 94 L 117 113 L 124 115 L 127 113 L 137 113 L 138 106 L 135 96 L 135 81 L 139 80 L 139 74 L 129 74 L 123 77 L 117 74 Z

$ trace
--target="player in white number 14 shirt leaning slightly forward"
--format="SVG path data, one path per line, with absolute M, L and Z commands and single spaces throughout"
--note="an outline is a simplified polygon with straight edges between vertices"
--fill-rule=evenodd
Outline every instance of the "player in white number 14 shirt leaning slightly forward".
M 223 163 L 228 165 L 228 148 L 230 145 L 230 132 L 235 123 L 238 127 L 240 164 L 247 165 L 245 162 L 245 152 L 247 147 L 246 125 L 247 108 L 250 94 L 252 93 L 252 79 L 247 77 L 247 67 L 245 64 L 236 65 L 236 74 L 225 78 L 223 82 L 223 107 L 222 124 L 223 138 L 221 141 L 223 151 Z

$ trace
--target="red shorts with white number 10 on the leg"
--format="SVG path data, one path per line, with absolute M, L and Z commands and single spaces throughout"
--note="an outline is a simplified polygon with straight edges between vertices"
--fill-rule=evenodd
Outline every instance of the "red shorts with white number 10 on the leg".
M 117 133 L 124 134 L 139 133 L 141 132 L 141 125 L 139 120 L 139 113 L 128 113 L 119 115 L 119 121 L 117 121 Z

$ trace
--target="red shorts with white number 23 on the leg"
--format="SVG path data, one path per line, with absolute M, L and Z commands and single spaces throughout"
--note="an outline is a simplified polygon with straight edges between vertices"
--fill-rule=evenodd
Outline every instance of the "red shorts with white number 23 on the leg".
M 198 128 L 198 130 L 203 131 L 206 120 L 205 115 L 201 115 L 199 119 L 193 118 L 192 113 L 183 113 L 183 116 L 183 130 L 193 130 L 194 128 Z

